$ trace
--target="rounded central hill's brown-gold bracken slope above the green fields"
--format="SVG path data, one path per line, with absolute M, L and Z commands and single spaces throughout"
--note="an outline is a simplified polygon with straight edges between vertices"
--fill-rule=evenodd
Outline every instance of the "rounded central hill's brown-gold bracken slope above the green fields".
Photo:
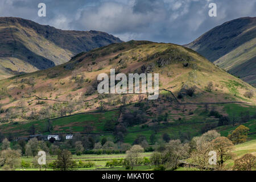
M 255 88 L 191 49 L 175 44 L 130 41 L 80 53 L 54 68 L 1 80 L 2 122 L 119 109 L 128 99 L 123 101 L 119 94 L 97 93 L 98 74 L 109 74 L 111 68 L 115 68 L 115 73 L 159 73 L 158 100 L 148 101 L 146 94 L 144 99 L 130 94 L 130 103 L 146 101 L 151 113 L 157 112 L 158 104 L 169 111 L 181 111 L 185 105 L 192 105 L 186 110 L 193 110 L 197 107 L 193 105 L 256 103 L 255 95 L 249 98 L 245 94 L 255 92 Z M 191 90 L 195 92 L 191 94 Z

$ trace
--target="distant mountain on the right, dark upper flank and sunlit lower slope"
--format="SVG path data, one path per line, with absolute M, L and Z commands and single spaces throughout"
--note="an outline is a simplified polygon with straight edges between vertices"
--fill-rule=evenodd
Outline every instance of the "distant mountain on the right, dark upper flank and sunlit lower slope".
M 221 24 L 185 46 L 256 86 L 256 17 Z

